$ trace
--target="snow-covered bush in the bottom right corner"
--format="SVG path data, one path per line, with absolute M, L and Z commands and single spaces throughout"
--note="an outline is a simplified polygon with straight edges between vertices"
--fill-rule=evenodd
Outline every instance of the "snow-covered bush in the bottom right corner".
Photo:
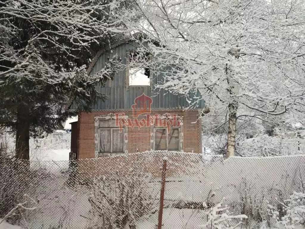
M 270 205 L 270 211 L 278 227 L 285 229 L 297 228 L 305 224 L 305 194 L 293 192 L 287 200 L 279 202 L 284 211 L 281 216 L 278 209 Z

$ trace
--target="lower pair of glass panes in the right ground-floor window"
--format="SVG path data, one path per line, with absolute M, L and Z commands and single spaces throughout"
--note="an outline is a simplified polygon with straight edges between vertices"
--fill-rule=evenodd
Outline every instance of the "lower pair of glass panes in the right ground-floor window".
M 155 128 L 155 150 L 179 151 L 179 128 Z

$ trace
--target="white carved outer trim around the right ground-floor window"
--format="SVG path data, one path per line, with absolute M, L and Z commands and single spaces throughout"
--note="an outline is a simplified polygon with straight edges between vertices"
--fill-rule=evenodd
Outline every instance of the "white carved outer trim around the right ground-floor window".
M 165 113 L 163 115 L 159 115 L 158 119 L 173 119 L 173 114 Z M 177 120 L 180 122 L 179 127 L 174 127 L 176 129 L 179 129 L 179 150 L 183 152 L 183 116 L 182 115 L 176 115 Z M 156 134 L 155 130 L 160 127 L 155 127 L 155 118 L 154 115 L 149 115 L 149 123 L 150 123 L 150 148 L 151 150 L 155 150 L 155 140 L 156 140 Z M 153 120 L 153 121 L 152 121 Z

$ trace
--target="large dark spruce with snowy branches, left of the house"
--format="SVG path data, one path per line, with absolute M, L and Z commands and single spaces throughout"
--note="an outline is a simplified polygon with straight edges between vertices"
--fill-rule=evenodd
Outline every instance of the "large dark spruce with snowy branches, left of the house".
M 52 132 L 73 115 L 73 98 L 88 111 L 103 99 L 96 84 L 111 80 L 115 58 L 86 72 L 97 51 L 126 32 L 128 0 L 0 1 L 0 126 L 16 133 L 16 156 L 29 159 L 29 137 Z M 127 10 L 128 11 L 128 10 Z M 87 65 L 87 66 L 86 66 Z

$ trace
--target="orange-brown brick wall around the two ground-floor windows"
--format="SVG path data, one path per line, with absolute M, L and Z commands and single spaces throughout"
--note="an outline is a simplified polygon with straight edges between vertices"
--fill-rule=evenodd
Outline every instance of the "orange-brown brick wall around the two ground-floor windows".
M 114 112 L 116 113 L 116 112 Z M 117 112 L 121 113 L 121 112 Z M 150 114 L 163 115 L 167 113 L 162 112 L 151 112 Z M 199 148 L 199 125 L 197 121 L 197 111 L 168 111 L 168 113 L 177 114 L 184 116 L 183 118 L 183 151 L 198 153 L 201 151 Z M 78 158 L 94 158 L 94 117 L 98 115 L 107 115 L 109 112 L 91 112 L 78 114 L 78 126 L 79 126 L 79 138 L 78 138 Z M 132 112 L 125 112 L 128 118 L 132 119 Z M 145 115 L 140 115 L 138 120 L 142 118 L 146 119 Z M 135 153 L 136 151 L 150 150 L 150 128 L 142 127 L 138 129 L 135 127 L 132 129 L 128 127 L 128 153 Z

